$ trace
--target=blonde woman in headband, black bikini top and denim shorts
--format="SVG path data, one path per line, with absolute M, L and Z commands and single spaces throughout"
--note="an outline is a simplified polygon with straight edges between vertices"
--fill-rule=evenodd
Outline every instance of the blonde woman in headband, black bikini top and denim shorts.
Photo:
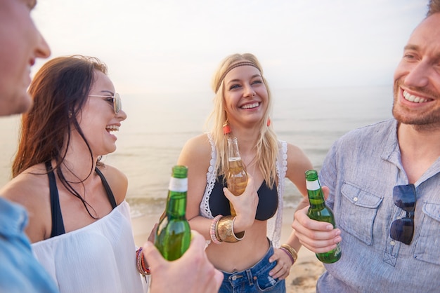
M 252 54 L 234 54 L 214 74 L 209 131 L 188 140 L 179 164 L 188 166 L 187 217 L 210 241 L 206 252 L 224 273 L 219 292 L 285 292 L 300 245 L 295 234 L 280 246 L 284 178 L 306 195 L 311 163 L 298 147 L 278 140 L 269 115 L 272 97 Z M 227 138 L 237 137 L 250 177 L 241 196 L 224 187 Z M 257 191 L 257 192 L 255 192 Z M 236 217 L 231 217 L 229 200 Z

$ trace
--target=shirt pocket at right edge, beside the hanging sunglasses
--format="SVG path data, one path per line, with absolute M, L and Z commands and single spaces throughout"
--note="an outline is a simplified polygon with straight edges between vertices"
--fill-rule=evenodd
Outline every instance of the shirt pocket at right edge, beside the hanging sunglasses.
M 416 207 L 417 208 L 417 207 Z M 440 265 L 440 204 L 423 203 L 420 234 L 415 243 L 414 257 L 430 264 Z M 415 222 L 415 226 L 418 223 Z

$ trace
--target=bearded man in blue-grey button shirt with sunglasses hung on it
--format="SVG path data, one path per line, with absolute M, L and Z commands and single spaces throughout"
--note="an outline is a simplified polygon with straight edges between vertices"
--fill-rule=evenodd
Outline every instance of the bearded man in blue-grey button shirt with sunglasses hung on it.
M 307 207 L 295 212 L 305 247 L 342 248 L 317 292 L 440 290 L 440 0 L 404 48 L 393 116 L 344 135 L 325 158 L 320 179 L 338 229 L 309 219 Z

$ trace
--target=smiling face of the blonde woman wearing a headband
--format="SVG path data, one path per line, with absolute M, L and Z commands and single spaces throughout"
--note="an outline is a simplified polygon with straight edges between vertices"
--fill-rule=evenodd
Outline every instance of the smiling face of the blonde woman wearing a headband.
M 224 104 L 232 126 L 261 122 L 268 107 L 268 92 L 260 71 L 249 65 L 229 71 L 224 78 Z

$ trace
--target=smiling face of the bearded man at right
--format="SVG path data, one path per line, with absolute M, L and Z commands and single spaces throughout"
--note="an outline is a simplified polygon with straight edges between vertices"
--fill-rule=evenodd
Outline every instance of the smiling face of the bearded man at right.
M 440 13 L 411 34 L 394 73 L 393 115 L 397 121 L 440 127 Z

